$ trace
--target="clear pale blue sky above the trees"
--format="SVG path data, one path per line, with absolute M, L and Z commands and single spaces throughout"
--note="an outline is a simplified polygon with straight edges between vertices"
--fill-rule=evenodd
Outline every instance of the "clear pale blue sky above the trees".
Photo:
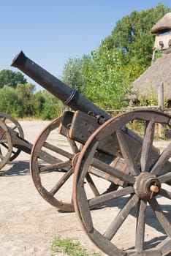
M 132 11 L 171 8 L 170 0 L 0 0 L 0 71 L 23 53 L 60 78 L 69 58 L 90 54 Z M 23 74 L 24 75 L 24 74 Z M 42 87 L 34 83 L 37 91 Z

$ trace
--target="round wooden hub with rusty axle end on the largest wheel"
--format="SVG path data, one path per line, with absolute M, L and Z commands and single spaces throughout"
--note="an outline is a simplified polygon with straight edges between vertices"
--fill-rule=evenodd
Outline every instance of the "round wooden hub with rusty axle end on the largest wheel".
M 141 173 L 134 184 L 134 192 L 141 198 L 152 198 L 159 194 L 161 184 L 151 173 Z

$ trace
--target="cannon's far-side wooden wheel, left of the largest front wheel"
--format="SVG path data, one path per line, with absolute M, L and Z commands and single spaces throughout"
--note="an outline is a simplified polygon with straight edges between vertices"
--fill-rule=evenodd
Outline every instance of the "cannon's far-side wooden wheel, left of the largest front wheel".
M 57 198 L 57 195 L 62 198 L 67 193 L 72 195 L 69 181 L 73 173 L 73 153 L 72 148 L 67 147 L 66 138 L 58 134 L 61 118 L 53 120 L 38 136 L 31 151 L 30 169 L 35 187 L 48 203 L 64 211 L 74 211 L 71 201 Z M 68 187 L 64 186 L 66 183 Z

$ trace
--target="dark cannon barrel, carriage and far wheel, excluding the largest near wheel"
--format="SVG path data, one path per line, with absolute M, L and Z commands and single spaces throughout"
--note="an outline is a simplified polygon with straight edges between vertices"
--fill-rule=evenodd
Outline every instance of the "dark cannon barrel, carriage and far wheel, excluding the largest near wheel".
M 110 119 L 111 116 L 78 94 L 75 89 L 69 88 L 61 80 L 58 80 L 58 78 L 55 78 L 45 69 L 42 69 L 34 61 L 28 59 L 22 51 L 13 59 L 12 67 L 18 67 L 18 69 L 39 83 L 43 88 L 50 91 L 51 94 L 61 99 L 65 105 L 72 108 L 72 111 L 66 111 L 63 116 L 53 120 L 38 136 L 31 151 L 30 169 L 35 187 L 48 203 L 62 211 L 74 211 L 72 199 L 69 199 L 68 203 L 68 200 L 61 200 L 59 196 L 64 197 L 66 190 L 69 188 L 67 183 L 73 178 L 72 174 L 74 173 L 77 157 L 86 140 L 107 119 Z M 70 147 L 69 150 L 68 147 L 67 150 L 61 148 L 60 140 L 54 141 L 53 133 L 56 130 L 62 136 L 61 140 L 66 138 Z M 133 136 L 132 131 L 124 127 L 122 128 L 122 132 L 126 135 L 129 143 L 134 143 L 135 148 L 132 148 L 132 154 L 139 161 L 139 152 L 136 148 L 140 148 L 142 143 L 141 138 L 135 133 Z M 109 137 L 105 143 L 100 144 L 96 158 L 103 159 L 107 163 L 113 162 L 113 166 L 121 168 L 125 172 L 126 165 L 123 162 L 123 158 L 120 157 L 117 138 L 115 137 L 113 141 L 115 151 L 113 151 L 113 148 L 111 149 L 113 145 L 110 145 L 110 140 L 111 138 Z M 56 157 L 56 164 L 52 164 L 48 160 L 42 162 L 41 157 L 39 157 L 39 151 L 47 151 L 48 154 Z M 154 150 L 152 157 L 156 158 L 157 156 L 158 154 Z M 117 160 L 113 161 L 115 158 Z M 58 181 L 54 177 L 54 184 L 51 184 L 51 187 L 47 184 L 48 177 L 45 178 L 47 173 L 51 176 L 58 173 Z M 61 176 L 59 176 L 59 173 Z M 106 187 L 104 189 L 101 188 L 99 191 L 97 188 L 98 182 L 95 184 L 94 179 L 91 177 L 92 175 L 93 177 L 105 178 L 107 180 Z M 91 170 L 91 173 L 87 174 L 86 180 L 95 196 L 110 192 L 113 189 L 118 189 L 119 186 L 119 181 L 113 182 L 113 177 L 106 176 L 105 172 L 99 172 L 96 169 Z M 70 193 L 72 195 L 72 191 Z

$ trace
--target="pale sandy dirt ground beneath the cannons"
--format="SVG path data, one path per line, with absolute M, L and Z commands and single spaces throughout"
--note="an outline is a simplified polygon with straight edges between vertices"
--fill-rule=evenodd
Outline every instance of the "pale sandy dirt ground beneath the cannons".
M 20 121 L 26 140 L 34 143 L 39 132 L 48 121 Z M 80 241 L 89 251 L 99 252 L 83 232 L 75 213 L 61 213 L 50 206 L 37 192 L 29 173 L 29 155 L 22 152 L 14 162 L 9 163 L 0 173 L 0 256 L 50 256 L 50 244 L 53 238 L 61 235 Z M 72 188 L 72 184 L 71 184 Z M 70 188 L 70 190 L 71 190 Z M 65 197 L 70 197 L 64 195 Z M 169 213 L 169 207 L 166 211 Z M 118 211 L 121 206 L 115 206 Z M 94 211 L 102 225 L 106 225 L 104 217 L 113 217 L 113 206 Z M 117 211 L 116 211 L 117 212 Z M 129 219 L 132 226 L 134 213 Z M 129 236 L 126 234 L 129 230 Z M 120 246 L 133 238 L 134 229 L 124 227 L 118 241 Z M 149 239 L 156 236 L 164 237 L 159 225 L 148 223 Z M 126 235 L 126 240 L 124 237 Z M 60 254 L 56 254 L 60 255 Z M 104 255 L 102 253 L 102 255 Z

